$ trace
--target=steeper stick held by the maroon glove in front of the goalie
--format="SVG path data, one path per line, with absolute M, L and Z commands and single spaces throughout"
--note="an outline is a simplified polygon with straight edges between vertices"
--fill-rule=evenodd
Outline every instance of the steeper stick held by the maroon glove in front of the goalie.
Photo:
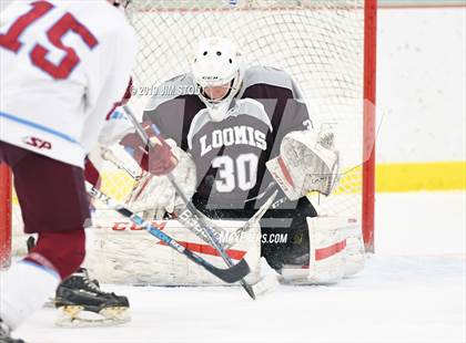
M 123 108 L 125 110 L 125 112 L 128 113 L 128 116 L 130 118 L 130 121 L 133 123 L 134 128 L 136 131 L 136 133 L 139 134 L 139 136 L 141 137 L 141 139 L 148 145 L 153 147 L 153 143 L 149 139 L 148 134 L 145 133 L 144 128 L 141 126 L 141 124 L 138 122 L 136 117 L 134 116 L 133 111 L 128 106 L 124 105 Z M 159 128 L 152 124 L 152 129 L 156 133 L 160 134 Z M 209 239 L 209 242 L 212 245 L 212 247 L 215 248 L 215 250 L 219 251 L 220 256 L 222 257 L 222 259 L 225 261 L 226 266 L 232 268 L 233 267 L 233 261 L 230 258 L 230 256 L 225 252 L 225 250 L 223 249 L 223 247 L 220 245 L 220 242 L 217 241 L 217 239 L 215 238 L 214 233 L 212 232 L 212 229 L 210 228 L 210 226 L 205 222 L 205 220 L 202 218 L 202 215 L 199 212 L 199 210 L 194 207 L 194 205 L 190 201 L 190 199 L 188 199 L 186 195 L 184 194 L 184 191 L 180 188 L 180 186 L 176 184 L 176 180 L 173 176 L 172 173 L 169 173 L 166 175 L 166 178 L 169 179 L 170 184 L 173 186 L 173 188 L 175 189 L 176 194 L 181 197 L 181 199 L 183 200 L 183 202 L 186 205 L 186 209 L 182 212 L 182 215 L 186 216 L 186 217 L 191 217 L 194 220 L 196 220 L 200 226 L 202 227 L 202 229 L 204 229 L 204 232 L 206 233 L 206 238 Z M 202 230 L 201 229 L 201 230 Z M 194 232 L 195 233 L 195 232 Z M 251 287 L 251 284 L 249 284 L 245 280 L 241 279 L 240 280 L 241 285 L 243 287 L 243 289 L 246 291 L 246 293 L 253 299 L 255 300 L 255 294 L 254 294 L 254 290 Z

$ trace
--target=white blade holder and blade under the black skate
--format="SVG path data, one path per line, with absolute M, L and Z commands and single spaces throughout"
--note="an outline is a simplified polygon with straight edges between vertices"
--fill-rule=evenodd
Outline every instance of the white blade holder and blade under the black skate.
M 67 305 L 59 309 L 60 316 L 55 324 L 64 328 L 111 326 L 128 323 L 131 320 L 129 308 L 112 306 L 99 313 L 85 311 L 83 306 Z

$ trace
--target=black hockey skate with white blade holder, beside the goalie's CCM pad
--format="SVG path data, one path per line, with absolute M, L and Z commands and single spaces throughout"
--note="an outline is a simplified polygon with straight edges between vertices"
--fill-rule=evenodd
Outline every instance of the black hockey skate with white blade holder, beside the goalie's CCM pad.
M 112 325 L 130 320 L 128 298 L 103 292 L 84 268 L 58 287 L 54 305 L 61 311 L 59 326 Z

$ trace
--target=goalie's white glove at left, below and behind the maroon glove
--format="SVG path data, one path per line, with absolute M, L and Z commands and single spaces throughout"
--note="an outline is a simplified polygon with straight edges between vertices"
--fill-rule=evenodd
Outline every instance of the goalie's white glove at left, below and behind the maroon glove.
M 171 152 L 179 160 L 172 174 L 176 184 L 191 198 L 196 187 L 195 164 L 190 154 L 176 146 L 172 139 L 166 141 L 173 146 Z M 126 205 L 136 212 L 143 212 L 146 220 L 163 218 L 164 214 L 172 214 L 184 207 L 184 202 L 176 195 L 172 184 L 165 176 L 145 174 L 134 186 Z

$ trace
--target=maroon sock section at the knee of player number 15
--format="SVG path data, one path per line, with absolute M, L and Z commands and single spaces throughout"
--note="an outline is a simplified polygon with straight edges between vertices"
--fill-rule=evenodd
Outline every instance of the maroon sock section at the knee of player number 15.
M 54 269 L 63 280 L 81 266 L 84 256 L 85 232 L 84 229 L 78 229 L 39 232 L 37 246 L 26 259 Z

